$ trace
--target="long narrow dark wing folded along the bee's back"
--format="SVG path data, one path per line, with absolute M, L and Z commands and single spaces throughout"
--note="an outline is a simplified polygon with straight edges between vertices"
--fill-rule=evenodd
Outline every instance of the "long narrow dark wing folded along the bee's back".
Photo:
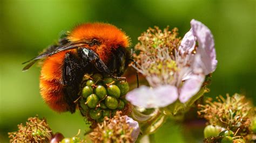
M 42 54 L 39 54 L 38 56 L 36 56 L 35 58 L 33 58 L 29 61 L 23 62 L 22 65 L 25 64 L 25 63 L 28 63 L 28 62 L 30 62 L 30 63 L 28 65 L 26 65 L 22 69 L 22 71 L 28 70 L 39 59 L 46 58 L 48 56 L 51 56 L 51 55 L 56 54 L 56 53 L 61 52 L 61 51 L 66 51 L 66 50 L 69 50 L 69 49 L 78 48 L 80 46 L 91 45 L 91 44 L 93 44 L 93 42 L 95 42 L 95 41 L 93 41 L 91 39 L 85 39 L 85 40 L 80 40 L 80 41 L 77 41 L 77 42 L 69 42 L 68 44 L 57 46 L 56 48 L 53 48 L 52 50 L 48 50 L 48 51 L 46 51 Z

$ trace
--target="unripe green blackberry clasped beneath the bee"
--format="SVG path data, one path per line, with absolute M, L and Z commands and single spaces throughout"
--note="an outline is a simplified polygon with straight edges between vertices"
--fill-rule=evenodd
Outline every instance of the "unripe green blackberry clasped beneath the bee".
M 112 118 L 116 111 L 127 106 L 125 95 L 129 84 L 125 80 L 103 77 L 101 74 L 85 75 L 80 91 L 79 109 L 89 121 L 100 123 L 104 117 Z

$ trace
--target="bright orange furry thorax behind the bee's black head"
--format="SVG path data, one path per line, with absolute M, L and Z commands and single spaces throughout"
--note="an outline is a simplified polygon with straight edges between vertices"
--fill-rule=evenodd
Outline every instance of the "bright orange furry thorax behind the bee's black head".
M 100 59 L 105 63 L 109 62 L 112 49 L 120 47 L 129 47 L 129 37 L 111 24 L 105 23 L 87 23 L 75 27 L 69 34 L 68 39 L 76 42 L 83 39 L 97 39 L 100 45 L 91 47 Z

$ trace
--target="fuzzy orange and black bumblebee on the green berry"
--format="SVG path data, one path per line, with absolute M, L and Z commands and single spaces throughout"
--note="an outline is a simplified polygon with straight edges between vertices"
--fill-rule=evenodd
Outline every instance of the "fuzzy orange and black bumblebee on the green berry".
M 23 71 L 44 59 L 40 75 L 44 101 L 57 112 L 73 113 L 84 74 L 119 77 L 124 73 L 131 57 L 129 40 L 122 30 L 111 24 L 81 24 L 44 53 L 27 61 L 30 63 Z

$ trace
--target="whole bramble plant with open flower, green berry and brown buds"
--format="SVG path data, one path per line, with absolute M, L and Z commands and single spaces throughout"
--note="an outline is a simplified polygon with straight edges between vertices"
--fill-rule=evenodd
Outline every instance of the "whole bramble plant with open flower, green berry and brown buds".
M 147 86 L 130 90 L 124 79 L 101 73 L 84 75 L 75 103 L 91 125 L 85 133 L 91 141 L 151 142 L 151 134 L 167 119 L 184 117 L 199 98 L 203 101 L 218 61 L 210 29 L 194 19 L 190 24 L 184 38 L 179 37 L 178 28 L 162 31 L 157 26 L 140 35 L 131 66 L 145 77 Z M 198 116 L 207 120 L 204 142 L 256 141 L 255 107 L 245 96 L 208 98 L 197 106 Z M 89 141 L 78 135 L 53 134 L 46 120 L 38 117 L 18 128 L 9 133 L 11 142 Z

